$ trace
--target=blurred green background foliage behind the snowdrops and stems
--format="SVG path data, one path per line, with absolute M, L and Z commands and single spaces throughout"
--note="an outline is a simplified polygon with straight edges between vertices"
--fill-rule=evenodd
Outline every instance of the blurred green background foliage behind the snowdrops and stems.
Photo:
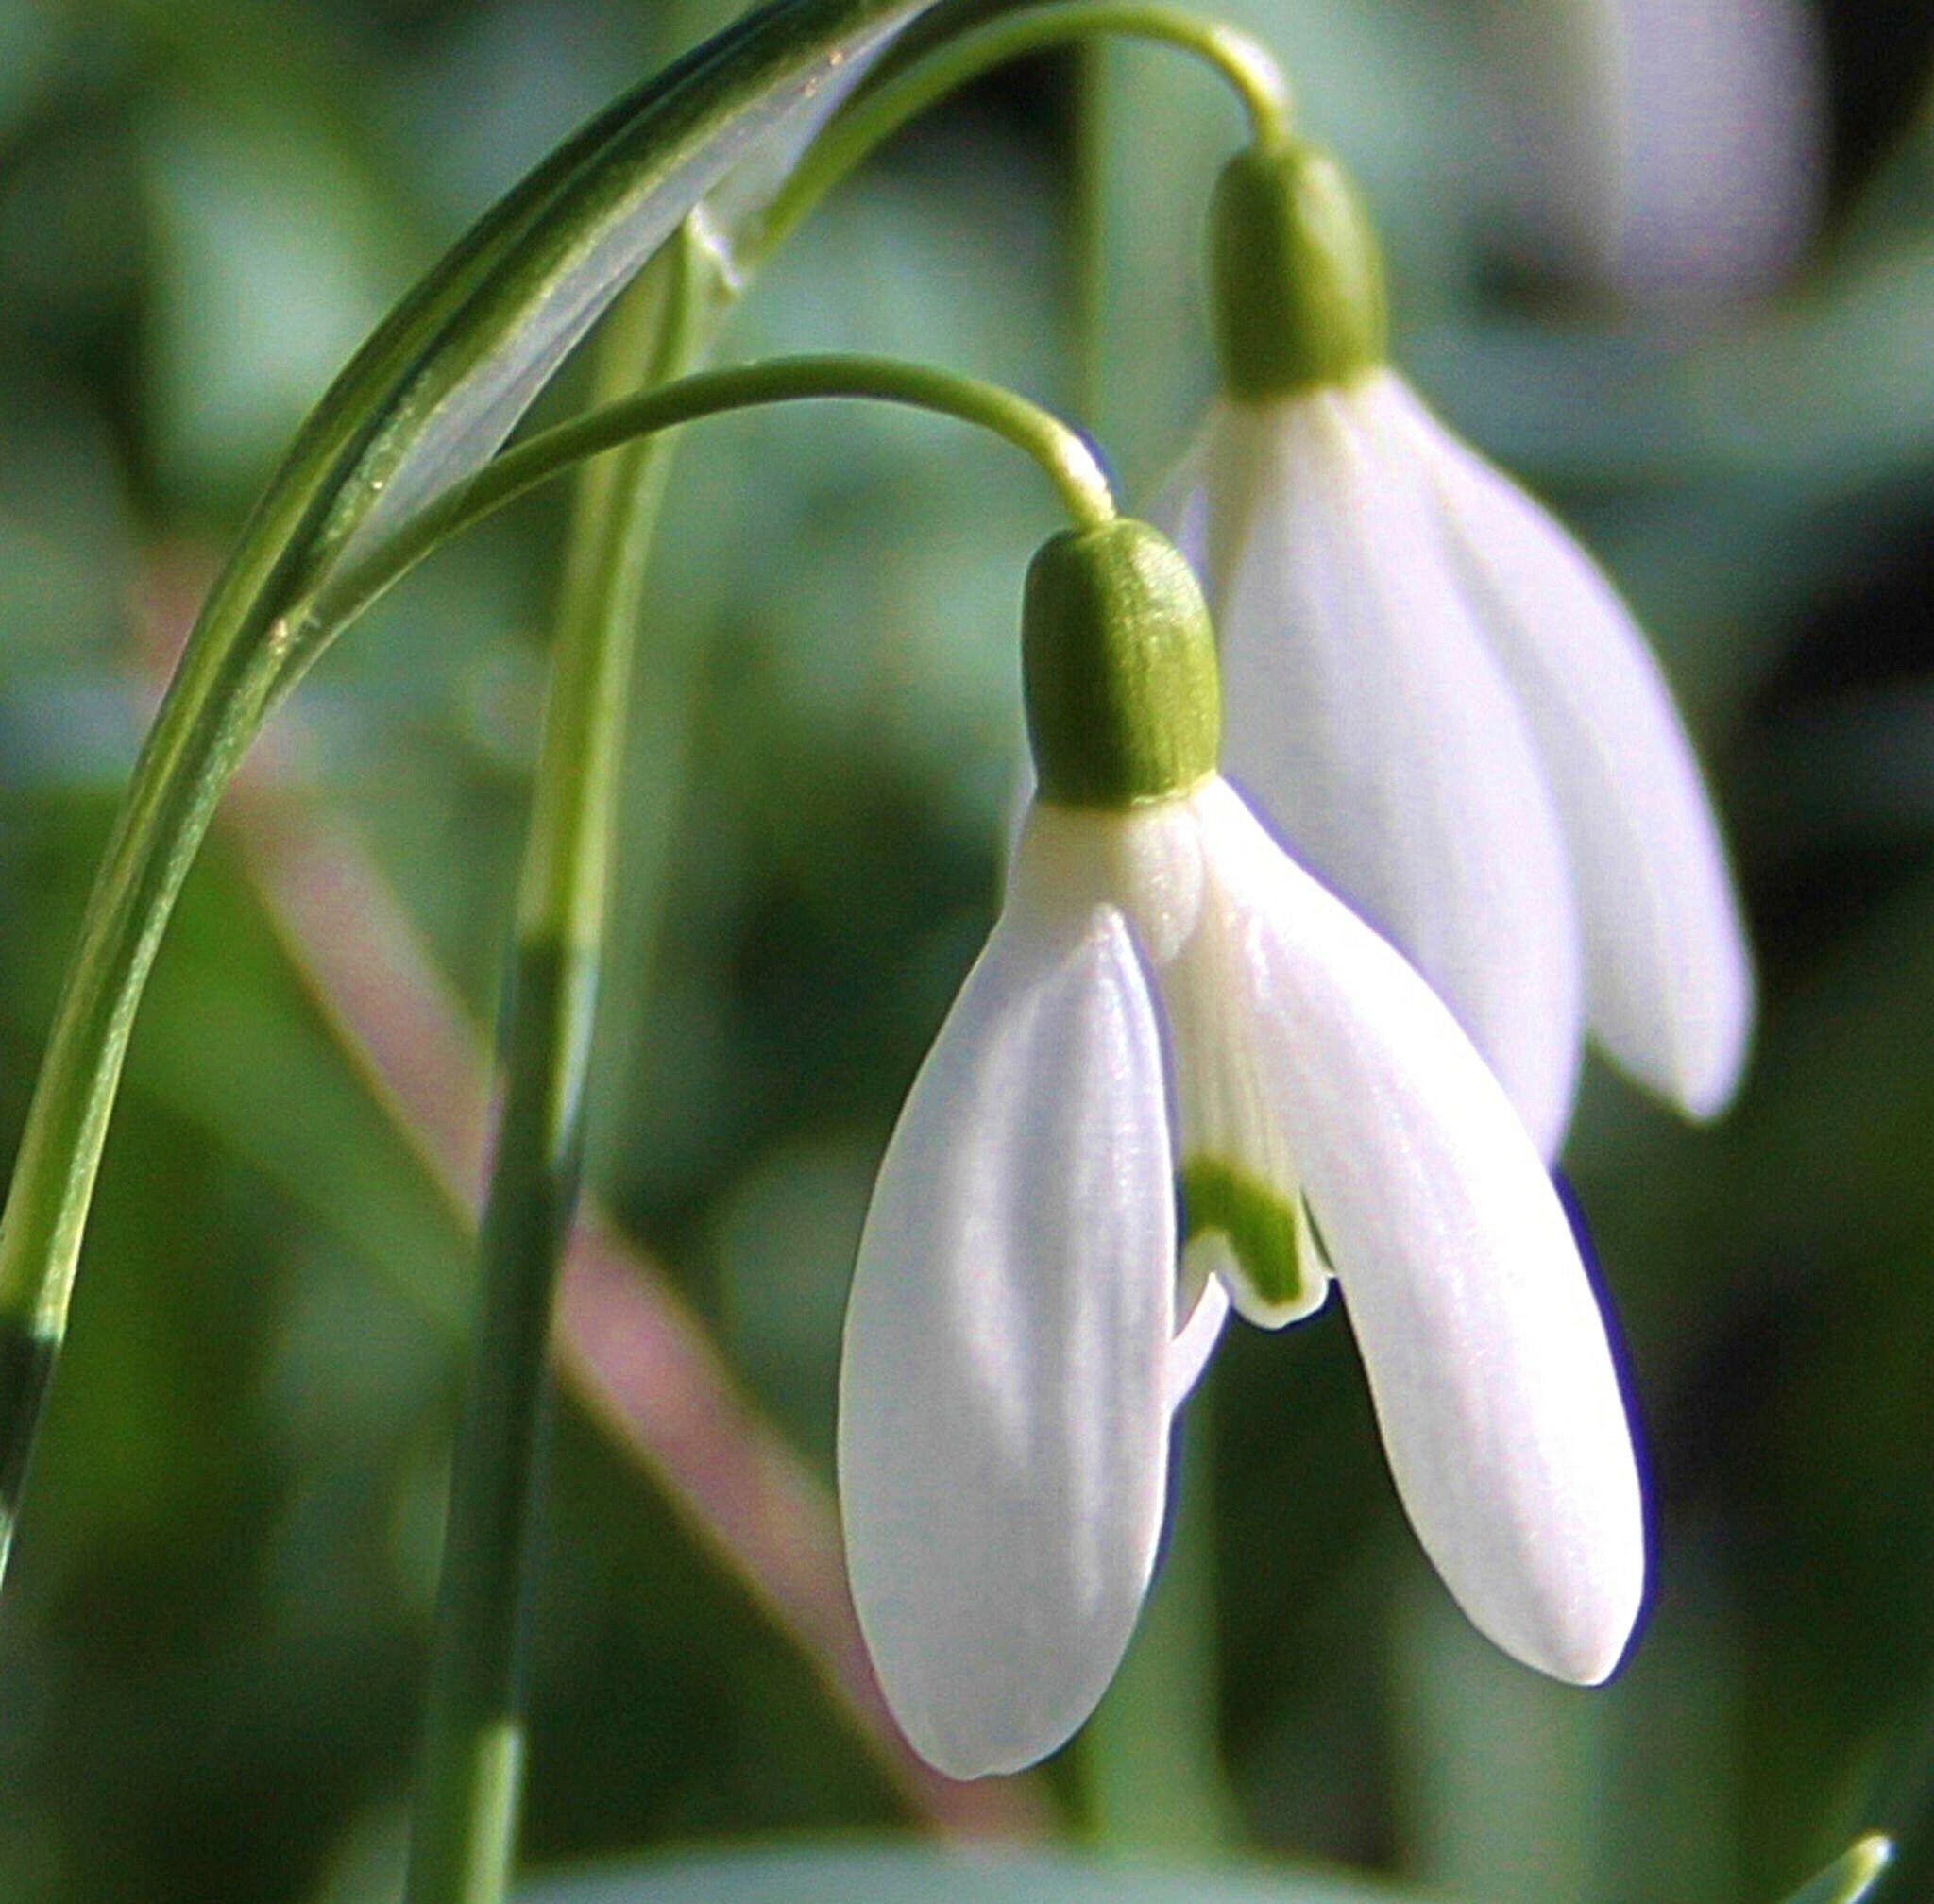
M 476 211 L 733 12 L 0 0 L 0 1147 L 170 644 L 302 412 Z M 1568 1155 L 1650 1447 L 1650 1629 L 1580 1695 L 1462 1625 L 1333 1304 L 1232 1331 L 1083 1741 L 971 1801 L 882 1741 L 828 1546 L 837 1325 L 992 913 L 1054 511 L 948 426 L 721 424 L 681 451 L 646 633 L 592 1140 L 634 1262 L 586 1320 L 601 1399 L 580 1366 L 557 1420 L 534 1867 L 1031 1830 L 1733 1904 L 1930 1805 L 1934 6 L 1238 14 L 1363 176 L 1406 366 L 1640 608 L 1737 844 L 1766 989 L 1737 1113 L 1696 1132 L 1594 1068 Z M 1207 393 L 1236 135 L 1162 54 L 1015 68 L 843 190 L 729 348 L 1011 381 L 1147 493 Z M 0 1604 L 4 1904 L 395 1883 L 561 521 L 522 507 L 346 637 L 190 882 Z

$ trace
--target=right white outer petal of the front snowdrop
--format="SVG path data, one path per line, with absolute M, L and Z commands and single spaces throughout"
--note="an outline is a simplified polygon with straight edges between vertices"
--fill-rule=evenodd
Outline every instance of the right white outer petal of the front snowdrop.
M 1259 1035 L 1425 1550 L 1509 1652 L 1596 1683 L 1644 1589 L 1605 1324 L 1543 1163 L 1418 975 L 1226 788 L 1197 795 L 1251 909 Z

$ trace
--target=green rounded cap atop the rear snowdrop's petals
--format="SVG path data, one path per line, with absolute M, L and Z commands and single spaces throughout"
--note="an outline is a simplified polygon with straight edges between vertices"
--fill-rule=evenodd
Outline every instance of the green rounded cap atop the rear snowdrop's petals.
M 1209 207 L 1216 356 L 1232 397 L 1354 383 L 1383 362 L 1383 255 L 1356 186 L 1321 147 L 1251 145 Z

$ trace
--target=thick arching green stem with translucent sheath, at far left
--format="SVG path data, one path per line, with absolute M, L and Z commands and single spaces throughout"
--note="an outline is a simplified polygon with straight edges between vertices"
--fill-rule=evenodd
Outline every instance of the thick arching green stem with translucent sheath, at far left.
M 482 466 L 700 195 L 756 195 L 762 168 L 783 172 L 923 4 L 777 0 L 605 112 L 398 306 L 257 505 L 135 766 L 0 1219 L 0 1563 L 133 1012 L 215 803 L 298 660 L 277 621 L 290 586 L 369 519 L 395 524 Z

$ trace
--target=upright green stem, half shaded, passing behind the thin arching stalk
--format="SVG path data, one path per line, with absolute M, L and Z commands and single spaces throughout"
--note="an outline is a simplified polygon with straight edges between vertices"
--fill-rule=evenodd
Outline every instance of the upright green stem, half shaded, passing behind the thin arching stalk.
M 613 312 L 596 397 L 675 377 L 702 344 L 706 290 L 687 228 Z M 669 437 L 632 443 L 578 482 L 501 1020 L 505 1099 L 451 1471 L 408 1904 L 497 1904 L 516 1846 L 520 1627 L 551 1310 L 578 1202 L 627 689 L 669 451 Z

